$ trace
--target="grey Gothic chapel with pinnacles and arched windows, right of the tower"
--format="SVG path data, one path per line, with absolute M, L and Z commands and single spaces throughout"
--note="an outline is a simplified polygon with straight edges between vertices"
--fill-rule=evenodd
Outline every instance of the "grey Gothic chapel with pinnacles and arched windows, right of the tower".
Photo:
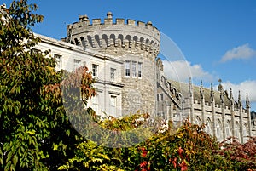
M 206 124 L 206 132 L 212 134 L 219 141 L 235 136 L 241 143 L 247 136 L 253 136 L 255 126 L 251 122 L 250 102 L 246 99 L 246 106 L 241 103 L 239 92 L 235 101 L 232 89 L 230 94 L 224 91 L 221 81 L 218 91 L 213 88 L 203 88 L 189 84 L 167 80 L 163 71 L 162 62 L 157 60 L 157 88 L 158 88 L 158 115 L 171 119 L 174 123 L 189 118 L 191 123 Z M 252 133 L 253 130 L 253 133 Z

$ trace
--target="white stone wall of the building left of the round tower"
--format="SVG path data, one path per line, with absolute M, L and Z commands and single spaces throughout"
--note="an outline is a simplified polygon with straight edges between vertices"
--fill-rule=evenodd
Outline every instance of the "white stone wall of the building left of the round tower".
M 40 37 L 42 42 L 38 43 L 34 48 L 41 51 L 50 50 L 48 57 L 54 57 L 55 54 L 61 55 L 60 66 L 56 70 L 74 71 L 74 60 L 79 60 L 80 66 L 87 66 L 89 71 L 92 71 L 92 65 L 98 66 L 98 77 L 95 83 L 97 89 L 97 96 L 93 100 L 89 100 L 88 106 L 95 107 L 97 115 L 103 117 L 106 114 L 114 115 L 114 117 L 121 116 L 121 73 L 122 73 L 122 60 L 114 60 L 111 56 L 106 56 L 96 53 L 92 50 L 84 50 L 82 47 L 75 46 L 70 43 L 64 43 L 53 38 Z M 110 78 L 110 68 L 116 69 L 115 79 Z M 116 97 L 116 111 L 114 114 L 113 107 L 111 107 L 110 99 Z

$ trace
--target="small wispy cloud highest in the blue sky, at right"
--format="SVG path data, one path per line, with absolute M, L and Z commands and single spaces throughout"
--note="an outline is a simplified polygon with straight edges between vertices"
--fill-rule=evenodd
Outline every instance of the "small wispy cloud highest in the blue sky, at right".
M 252 58 L 253 56 L 256 56 L 256 50 L 254 50 L 253 48 L 250 48 L 249 44 L 247 43 L 247 44 L 228 50 L 220 61 L 226 62 L 228 60 L 234 60 L 234 59 L 247 60 Z

